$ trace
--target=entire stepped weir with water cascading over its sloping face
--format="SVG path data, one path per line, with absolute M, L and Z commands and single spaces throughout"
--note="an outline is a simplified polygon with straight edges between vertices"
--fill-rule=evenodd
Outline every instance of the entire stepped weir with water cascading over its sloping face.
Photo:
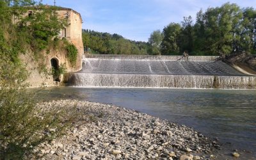
M 256 77 L 214 56 L 88 55 L 83 69 L 65 76 L 73 86 L 147 88 L 256 88 Z

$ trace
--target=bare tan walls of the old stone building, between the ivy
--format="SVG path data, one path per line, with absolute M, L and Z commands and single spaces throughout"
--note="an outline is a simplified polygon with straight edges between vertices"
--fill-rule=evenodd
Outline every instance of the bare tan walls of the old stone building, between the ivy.
M 33 10 L 28 10 L 27 16 L 33 14 Z M 60 19 L 67 19 L 67 27 L 61 29 L 59 38 L 66 38 L 66 40 L 74 44 L 78 50 L 76 65 L 72 66 L 67 58 L 67 49 L 62 47 L 60 49 L 50 49 L 50 51 L 45 51 L 44 62 L 36 62 L 33 60 L 33 56 L 21 55 L 20 58 L 27 64 L 27 69 L 30 72 L 28 78 L 28 83 L 31 87 L 38 86 L 54 86 L 56 81 L 61 82 L 63 79 L 56 79 L 53 76 L 45 76 L 45 74 L 39 73 L 38 68 L 42 65 L 45 66 L 47 70 L 51 68 L 58 68 L 61 64 L 65 64 L 67 67 L 67 72 L 76 72 L 82 68 L 82 56 L 84 54 L 83 40 L 82 40 L 82 23 L 80 13 L 72 10 L 70 8 L 58 7 L 57 11 Z

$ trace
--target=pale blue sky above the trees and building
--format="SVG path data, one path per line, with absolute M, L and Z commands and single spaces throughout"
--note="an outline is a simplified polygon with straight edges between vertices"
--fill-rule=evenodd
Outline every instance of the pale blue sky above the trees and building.
M 54 0 L 43 0 L 53 5 Z M 57 6 L 81 13 L 83 29 L 117 33 L 125 38 L 147 42 L 150 33 L 163 30 L 170 22 L 193 19 L 201 8 L 221 6 L 223 0 L 56 0 Z M 243 7 L 256 7 L 256 0 L 229 1 Z

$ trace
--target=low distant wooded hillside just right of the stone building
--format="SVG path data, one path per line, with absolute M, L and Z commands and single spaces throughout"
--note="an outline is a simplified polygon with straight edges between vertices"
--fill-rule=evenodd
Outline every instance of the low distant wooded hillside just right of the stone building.
M 147 54 L 150 45 L 125 39 L 117 34 L 83 30 L 83 43 L 86 51 L 97 54 Z

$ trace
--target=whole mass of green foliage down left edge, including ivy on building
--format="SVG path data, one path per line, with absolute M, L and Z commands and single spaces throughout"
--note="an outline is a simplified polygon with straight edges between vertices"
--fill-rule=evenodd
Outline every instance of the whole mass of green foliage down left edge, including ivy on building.
M 39 57 L 38 51 L 49 48 L 65 20 L 58 20 L 52 8 L 23 17 L 30 8 L 19 6 L 34 1 L 11 1 L 12 7 L 6 2 L 0 0 L 0 159 L 23 159 L 39 143 L 63 133 L 76 112 L 36 106 L 35 93 L 26 90 L 28 72 L 19 60 L 19 54 L 29 51 Z M 12 22 L 13 13 L 19 22 Z

